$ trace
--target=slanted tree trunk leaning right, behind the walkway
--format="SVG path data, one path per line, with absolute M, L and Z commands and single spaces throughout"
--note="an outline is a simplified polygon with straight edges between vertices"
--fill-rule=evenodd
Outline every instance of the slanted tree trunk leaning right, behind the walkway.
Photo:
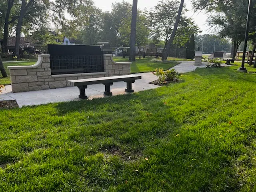
M 176 31 L 178 29 L 178 24 L 180 22 L 180 17 L 181 17 L 181 13 L 182 13 L 182 8 L 183 8 L 183 5 L 184 5 L 184 0 L 181 0 L 180 2 L 180 8 L 179 8 L 179 11 L 178 11 L 178 15 L 176 17 L 176 22 L 174 24 L 174 28 L 172 30 L 172 34 L 171 34 L 171 37 L 170 39 L 168 40 L 168 43 L 166 45 L 166 50 L 170 50 L 170 47 L 172 45 L 172 42 L 174 40 L 174 37 L 175 37 L 175 34 L 176 34 Z M 167 60 L 167 57 L 168 57 L 168 52 L 165 50 L 164 52 L 164 55 L 162 56 L 162 61 L 166 61 Z

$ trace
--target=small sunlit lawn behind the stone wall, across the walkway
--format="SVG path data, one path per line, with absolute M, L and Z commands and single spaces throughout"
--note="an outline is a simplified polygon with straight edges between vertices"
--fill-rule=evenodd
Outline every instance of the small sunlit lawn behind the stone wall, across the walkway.
M 128 58 L 113 58 L 115 62 L 128 62 Z M 131 73 L 142 73 L 142 72 L 152 72 L 156 70 L 156 68 L 163 68 L 164 70 L 168 70 L 174 66 L 179 64 L 178 62 L 172 61 L 172 62 L 166 62 L 161 63 L 154 61 L 153 58 L 136 58 L 135 62 L 132 62 L 131 64 Z

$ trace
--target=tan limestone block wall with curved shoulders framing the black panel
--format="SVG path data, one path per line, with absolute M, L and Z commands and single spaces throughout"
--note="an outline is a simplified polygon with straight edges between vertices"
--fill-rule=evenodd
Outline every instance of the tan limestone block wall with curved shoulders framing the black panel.
M 50 55 L 38 55 L 32 66 L 8 66 L 12 92 L 54 89 L 71 86 L 68 80 L 130 74 L 131 62 L 114 62 L 111 54 L 104 54 L 104 72 L 52 75 Z

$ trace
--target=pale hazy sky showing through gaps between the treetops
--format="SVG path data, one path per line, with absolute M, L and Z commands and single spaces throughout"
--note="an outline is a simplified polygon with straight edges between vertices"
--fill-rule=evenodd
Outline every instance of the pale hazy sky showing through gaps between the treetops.
M 132 4 L 132 0 L 125 0 Z M 100 8 L 103 11 L 111 11 L 111 5 L 115 2 L 122 2 L 122 0 L 94 0 L 94 4 L 96 7 Z M 144 10 L 144 8 L 150 9 L 159 2 L 159 0 L 138 0 L 138 8 L 140 10 Z M 199 26 L 202 31 L 201 34 L 210 33 L 209 27 L 206 24 L 207 16 L 203 12 L 196 12 L 192 10 L 192 5 L 190 0 L 185 0 L 186 8 L 189 10 L 186 13 L 186 16 L 192 17 L 195 23 Z

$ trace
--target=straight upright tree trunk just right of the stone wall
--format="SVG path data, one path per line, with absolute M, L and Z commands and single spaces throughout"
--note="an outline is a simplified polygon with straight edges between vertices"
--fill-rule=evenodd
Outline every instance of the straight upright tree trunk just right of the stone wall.
M 135 53 L 135 42 L 136 42 L 137 4 L 138 4 L 138 0 L 133 0 L 129 61 L 135 61 L 135 54 L 136 54 Z

